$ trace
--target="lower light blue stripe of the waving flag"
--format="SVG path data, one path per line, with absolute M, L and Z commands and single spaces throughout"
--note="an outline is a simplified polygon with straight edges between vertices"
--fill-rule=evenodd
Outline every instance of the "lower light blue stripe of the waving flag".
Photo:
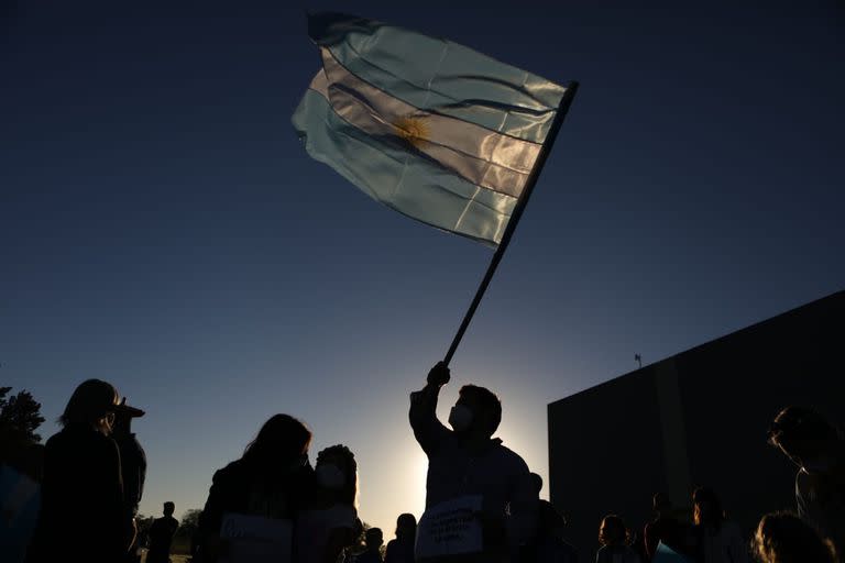
M 373 199 L 432 227 L 498 243 L 516 198 L 475 186 L 430 159 L 392 146 L 342 120 L 308 90 L 294 114 L 308 154 Z

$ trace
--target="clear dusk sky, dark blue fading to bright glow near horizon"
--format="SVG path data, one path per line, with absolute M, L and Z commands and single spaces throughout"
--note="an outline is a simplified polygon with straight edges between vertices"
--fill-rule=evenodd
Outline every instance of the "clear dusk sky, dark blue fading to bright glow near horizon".
M 636 4 L 7 2 L 0 384 L 45 439 L 89 377 L 145 409 L 147 515 L 276 412 L 355 452 L 386 539 L 420 515 L 408 394 L 492 252 L 307 157 L 305 11 L 342 10 L 581 85 L 439 408 L 495 390 L 547 477 L 549 402 L 845 288 L 842 4 Z

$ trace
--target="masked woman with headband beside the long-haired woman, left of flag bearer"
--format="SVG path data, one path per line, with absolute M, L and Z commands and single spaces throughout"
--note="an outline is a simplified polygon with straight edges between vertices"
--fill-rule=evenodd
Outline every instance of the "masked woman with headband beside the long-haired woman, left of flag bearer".
M 294 534 L 297 563 L 334 563 L 355 540 L 358 463 L 345 445 L 317 454 L 317 487 L 299 512 Z

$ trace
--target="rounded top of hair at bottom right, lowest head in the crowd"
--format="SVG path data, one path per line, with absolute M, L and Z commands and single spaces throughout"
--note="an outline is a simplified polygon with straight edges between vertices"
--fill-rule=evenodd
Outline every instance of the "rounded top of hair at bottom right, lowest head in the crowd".
M 830 540 L 790 512 L 762 517 L 754 534 L 754 551 L 762 563 L 834 563 Z

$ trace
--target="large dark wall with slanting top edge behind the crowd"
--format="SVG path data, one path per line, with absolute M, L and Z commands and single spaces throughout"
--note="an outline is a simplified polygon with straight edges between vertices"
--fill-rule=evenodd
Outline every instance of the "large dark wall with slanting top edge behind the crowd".
M 582 561 L 604 515 L 641 530 L 658 490 L 688 507 L 712 486 L 747 530 L 792 509 L 795 468 L 768 423 L 787 405 L 845 422 L 843 376 L 845 291 L 549 405 L 550 497 Z

